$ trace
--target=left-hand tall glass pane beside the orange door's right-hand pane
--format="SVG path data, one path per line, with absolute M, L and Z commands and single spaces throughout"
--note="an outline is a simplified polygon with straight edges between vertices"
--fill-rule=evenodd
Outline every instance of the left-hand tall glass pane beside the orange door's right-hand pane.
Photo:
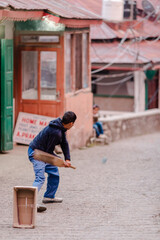
M 37 99 L 38 53 L 22 51 L 22 99 Z

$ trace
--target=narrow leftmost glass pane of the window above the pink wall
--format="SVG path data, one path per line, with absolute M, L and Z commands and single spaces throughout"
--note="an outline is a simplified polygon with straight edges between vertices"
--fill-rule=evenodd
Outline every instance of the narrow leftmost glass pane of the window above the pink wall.
M 71 35 L 67 34 L 65 38 L 65 91 L 71 92 Z

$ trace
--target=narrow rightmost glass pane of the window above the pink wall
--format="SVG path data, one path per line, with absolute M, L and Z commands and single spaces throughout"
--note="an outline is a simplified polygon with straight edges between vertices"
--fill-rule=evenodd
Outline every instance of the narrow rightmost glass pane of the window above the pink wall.
M 83 88 L 88 87 L 88 34 L 83 33 Z

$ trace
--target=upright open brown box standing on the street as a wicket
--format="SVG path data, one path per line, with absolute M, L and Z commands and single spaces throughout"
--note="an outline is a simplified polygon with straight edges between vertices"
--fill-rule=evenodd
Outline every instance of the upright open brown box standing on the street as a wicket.
M 13 227 L 34 228 L 37 213 L 37 188 L 15 186 L 13 188 Z

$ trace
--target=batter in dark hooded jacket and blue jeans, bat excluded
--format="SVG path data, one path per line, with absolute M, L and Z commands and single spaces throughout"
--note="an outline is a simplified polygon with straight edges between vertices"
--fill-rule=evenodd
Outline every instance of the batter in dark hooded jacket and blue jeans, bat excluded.
M 55 146 L 60 145 L 65 158 L 65 167 L 69 167 L 71 165 L 71 159 L 69 144 L 66 139 L 66 131 L 71 129 L 76 119 L 77 116 L 74 112 L 66 112 L 63 115 L 62 119 L 57 118 L 55 120 L 52 120 L 49 125 L 42 129 L 39 134 L 33 139 L 33 141 L 29 144 L 28 157 L 33 164 L 35 172 L 35 180 L 33 182 L 33 186 L 37 187 L 38 191 L 40 191 L 41 187 L 45 182 L 45 172 L 48 174 L 47 189 L 44 193 L 44 198 L 42 201 L 43 203 L 62 202 L 62 198 L 55 197 L 59 185 L 59 171 L 56 166 L 35 160 L 33 157 L 34 150 L 39 149 L 56 156 L 56 154 L 54 153 Z M 45 205 L 37 206 L 38 212 L 42 212 L 45 210 Z

